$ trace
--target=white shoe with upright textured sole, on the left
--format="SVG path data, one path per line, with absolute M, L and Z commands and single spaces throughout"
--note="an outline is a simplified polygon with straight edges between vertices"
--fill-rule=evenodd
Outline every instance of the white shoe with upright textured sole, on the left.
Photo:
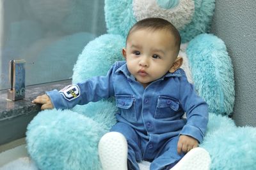
M 127 170 L 127 141 L 119 132 L 108 132 L 99 141 L 99 157 L 104 170 Z

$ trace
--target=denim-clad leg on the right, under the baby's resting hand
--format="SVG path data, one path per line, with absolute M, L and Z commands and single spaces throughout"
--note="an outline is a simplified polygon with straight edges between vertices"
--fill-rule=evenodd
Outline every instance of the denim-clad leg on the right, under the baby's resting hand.
M 150 164 L 150 170 L 170 169 L 184 157 L 184 153 L 179 154 L 177 152 L 178 140 L 179 136 L 170 139 L 164 144 L 156 155 L 156 159 Z

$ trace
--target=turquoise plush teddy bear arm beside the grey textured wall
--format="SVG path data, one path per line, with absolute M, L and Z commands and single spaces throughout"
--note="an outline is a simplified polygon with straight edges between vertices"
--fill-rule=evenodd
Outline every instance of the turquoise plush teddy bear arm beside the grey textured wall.
M 209 111 L 230 115 L 233 110 L 234 71 L 224 42 L 212 34 L 200 34 L 189 42 L 189 64 L 198 90 Z

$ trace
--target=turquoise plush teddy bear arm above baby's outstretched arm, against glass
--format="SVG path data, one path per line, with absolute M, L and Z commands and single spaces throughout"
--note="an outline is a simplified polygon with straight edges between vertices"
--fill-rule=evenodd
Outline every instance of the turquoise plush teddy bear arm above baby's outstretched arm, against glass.
M 116 60 L 124 60 L 122 57 L 124 47 L 125 38 L 120 35 L 104 34 L 90 41 L 74 66 L 73 83 L 83 82 L 92 76 L 106 75 Z

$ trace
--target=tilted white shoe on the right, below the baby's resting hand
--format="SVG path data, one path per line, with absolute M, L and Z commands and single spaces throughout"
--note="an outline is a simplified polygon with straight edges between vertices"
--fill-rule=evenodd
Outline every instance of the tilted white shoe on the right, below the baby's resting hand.
M 204 148 L 190 150 L 172 170 L 209 170 L 211 157 Z

